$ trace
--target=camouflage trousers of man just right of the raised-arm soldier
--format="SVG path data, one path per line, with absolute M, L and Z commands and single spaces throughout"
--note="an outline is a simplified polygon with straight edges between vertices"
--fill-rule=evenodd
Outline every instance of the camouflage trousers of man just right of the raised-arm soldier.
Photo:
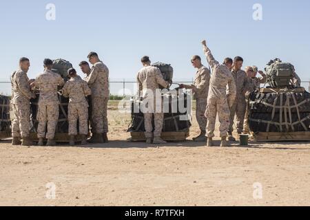
M 233 106 L 230 108 L 230 120 L 229 120 L 229 129 L 228 133 L 232 133 L 234 131 L 234 119 L 235 115 L 237 116 L 237 132 L 242 133 L 243 131 L 243 123 L 245 121 L 245 97 L 241 96 L 240 98 L 236 98 Z

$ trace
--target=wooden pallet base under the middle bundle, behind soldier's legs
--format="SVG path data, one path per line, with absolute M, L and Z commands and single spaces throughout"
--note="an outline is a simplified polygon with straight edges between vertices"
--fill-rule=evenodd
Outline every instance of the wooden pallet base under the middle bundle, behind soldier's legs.
M 146 140 L 144 132 L 131 132 L 132 142 L 143 142 Z M 185 141 L 189 137 L 189 131 L 163 132 L 161 138 L 168 142 Z

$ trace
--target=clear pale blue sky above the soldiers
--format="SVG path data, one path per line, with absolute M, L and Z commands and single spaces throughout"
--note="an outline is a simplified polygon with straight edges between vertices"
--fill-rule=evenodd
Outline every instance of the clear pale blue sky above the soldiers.
M 48 3 L 56 5 L 56 21 L 45 19 Z M 262 21 L 252 19 L 254 3 L 262 5 Z M 34 78 L 44 58 L 65 58 L 79 69 L 90 51 L 112 79 L 134 79 L 143 55 L 171 63 L 175 79 L 191 79 L 190 57 L 204 57 L 200 41 L 207 39 L 218 61 L 238 55 L 244 66 L 262 69 L 278 57 L 310 80 L 309 23 L 307 0 L 3 1 L 0 79 L 9 79 L 21 56 L 30 58 Z

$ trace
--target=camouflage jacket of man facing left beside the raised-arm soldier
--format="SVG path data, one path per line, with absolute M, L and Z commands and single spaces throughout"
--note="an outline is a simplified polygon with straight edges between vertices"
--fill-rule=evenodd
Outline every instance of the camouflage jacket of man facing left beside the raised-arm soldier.
M 194 97 L 207 98 L 209 92 L 210 71 L 207 67 L 200 67 L 194 81 Z

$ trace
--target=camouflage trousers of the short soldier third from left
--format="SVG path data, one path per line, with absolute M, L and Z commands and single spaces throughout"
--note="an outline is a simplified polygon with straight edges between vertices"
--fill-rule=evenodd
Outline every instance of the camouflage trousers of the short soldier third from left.
M 88 133 L 88 105 L 84 102 L 68 104 L 69 135 L 77 135 L 76 122 L 79 119 L 80 135 Z

